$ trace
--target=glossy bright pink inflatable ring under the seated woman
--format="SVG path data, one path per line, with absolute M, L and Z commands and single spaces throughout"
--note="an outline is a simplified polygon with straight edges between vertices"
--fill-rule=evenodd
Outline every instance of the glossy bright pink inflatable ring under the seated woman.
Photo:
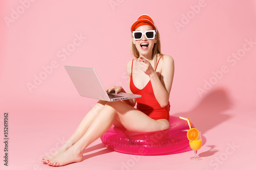
M 122 131 L 112 126 L 100 139 L 106 148 L 132 155 L 167 155 L 190 151 L 186 122 L 170 116 L 170 129 L 156 132 Z M 191 125 L 191 128 L 194 128 Z

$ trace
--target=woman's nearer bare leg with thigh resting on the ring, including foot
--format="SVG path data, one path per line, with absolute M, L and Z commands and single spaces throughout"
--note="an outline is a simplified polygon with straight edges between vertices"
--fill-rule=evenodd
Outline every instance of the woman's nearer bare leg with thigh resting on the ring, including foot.
M 95 117 L 87 132 L 72 147 L 51 159 L 48 164 L 62 166 L 82 161 L 83 150 L 108 131 L 115 119 L 127 130 L 157 131 L 169 128 L 167 120 L 158 122 L 121 101 L 108 102 Z

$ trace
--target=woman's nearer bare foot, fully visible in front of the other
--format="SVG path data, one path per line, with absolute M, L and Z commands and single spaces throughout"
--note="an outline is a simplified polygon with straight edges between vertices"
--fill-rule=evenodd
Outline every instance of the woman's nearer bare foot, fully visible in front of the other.
M 75 152 L 72 147 L 67 151 L 63 152 L 61 155 L 50 159 L 48 165 L 52 166 L 63 166 L 73 162 L 81 162 L 82 161 L 82 152 Z

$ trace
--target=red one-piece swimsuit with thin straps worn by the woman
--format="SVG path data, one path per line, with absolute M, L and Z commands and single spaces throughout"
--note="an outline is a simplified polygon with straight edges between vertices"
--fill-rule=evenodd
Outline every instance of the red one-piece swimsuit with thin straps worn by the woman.
M 161 57 L 159 58 L 159 60 Z M 159 63 L 157 62 L 157 65 Z M 133 60 L 134 61 L 134 60 Z M 132 61 L 132 72 L 130 80 L 130 89 L 134 94 L 141 95 L 141 98 L 137 98 L 137 109 L 148 115 L 149 117 L 158 120 L 158 119 L 167 119 L 169 120 L 169 110 L 170 104 L 167 106 L 161 107 L 156 100 L 151 81 L 143 89 L 138 89 L 133 83 L 133 61 Z M 156 66 L 157 69 L 157 66 Z M 156 71 L 155 69 L 155 71 Z

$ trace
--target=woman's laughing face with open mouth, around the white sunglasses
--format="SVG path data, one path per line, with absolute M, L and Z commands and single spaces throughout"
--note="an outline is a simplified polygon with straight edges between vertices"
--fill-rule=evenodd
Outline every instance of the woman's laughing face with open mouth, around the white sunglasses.
M 138 27 L 135 31 L 145 32 L 148 30 L 154 30 L 154 29 L 152 26 L 144 25 L 144 26 Z M 156 42 L 157 42 L 156 36 L 155 36 L 155 39 L 147 39 L 145 35 L 143 35 L 142 39 L 140 40 L 133 39 L 133 43 L 135 44 L 137 50 L 139 51 L 140 56 L 142 55 L 143 57 L 146 57 L 146 58 L 152 57 L 152 53 L 153 53 L 152 50 Z

